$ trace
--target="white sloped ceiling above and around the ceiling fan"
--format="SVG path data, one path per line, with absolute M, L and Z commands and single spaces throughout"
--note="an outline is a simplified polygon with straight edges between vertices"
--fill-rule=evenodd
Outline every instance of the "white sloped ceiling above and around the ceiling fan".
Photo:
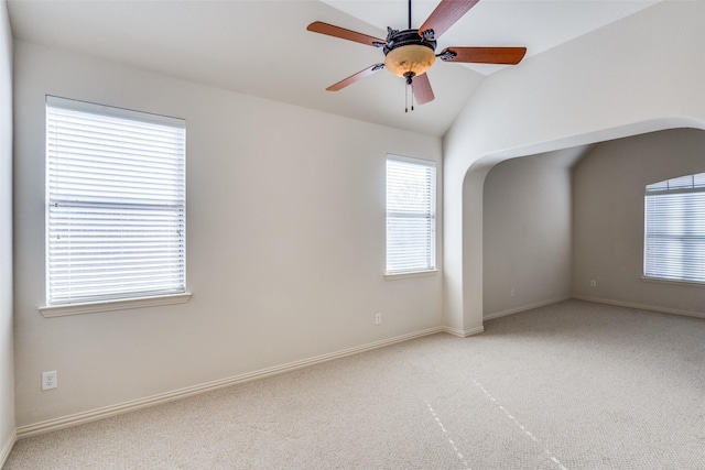
M 657 1 L 481 0 L 440 39 L 438 51 L 523 45 L 524 61 L 530 61 Z M 437 3 L 414 0 L 413 26 Z M 438 61 L 429 72 L 436 99 L 404 113 L 403 79 L 384 70 L 344 90 L 325 91 L 382 62 L 383 55 L 375 47 L 306 31 L 318 20 L 383 39 L 388 25 L 408 28 L 406 9 L 406 0 L 8 1 L 19 40 L 441 136 L 485 76 L 503 67 Z

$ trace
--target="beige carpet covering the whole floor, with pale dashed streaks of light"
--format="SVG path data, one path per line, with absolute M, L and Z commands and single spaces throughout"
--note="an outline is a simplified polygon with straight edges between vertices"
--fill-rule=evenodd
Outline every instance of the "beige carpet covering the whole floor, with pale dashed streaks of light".
M 6 469 L 705 469 L 705 320 L 570 300 L 22 439 Z

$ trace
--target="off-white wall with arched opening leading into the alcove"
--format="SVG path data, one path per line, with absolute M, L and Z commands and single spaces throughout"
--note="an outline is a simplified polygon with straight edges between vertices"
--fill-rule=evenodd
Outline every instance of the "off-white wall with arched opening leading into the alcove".
M 444 138 L 444 321 L 482 323 L 482 185 L 501 160 L 705 128 L 705 2 L 664 1 L 488 77 Z

